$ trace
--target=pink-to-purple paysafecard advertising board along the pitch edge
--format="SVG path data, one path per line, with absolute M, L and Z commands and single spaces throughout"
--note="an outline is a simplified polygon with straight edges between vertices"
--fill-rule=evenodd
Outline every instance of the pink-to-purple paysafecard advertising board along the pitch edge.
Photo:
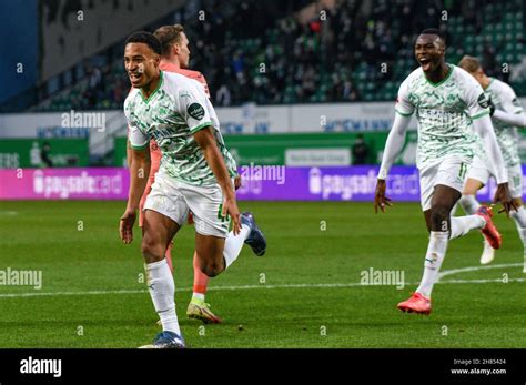
M 523 166 L 523 173 L 525 168 Z M 245 165 L 240 168 L 240 200 L 254 201 L 373 201 L 377 166 L 289 168 Z M 12 169 L 0 170 L 1 200 L 125 200 L 129 173 L 124 168 Z M 490 201 L 494 180 L 481 190 L 482 202 Z M 524 188 L 523 188 L 524 191 Z M 417 170 L 393 166 L 387 196 L 394 201 L 419 201 Z

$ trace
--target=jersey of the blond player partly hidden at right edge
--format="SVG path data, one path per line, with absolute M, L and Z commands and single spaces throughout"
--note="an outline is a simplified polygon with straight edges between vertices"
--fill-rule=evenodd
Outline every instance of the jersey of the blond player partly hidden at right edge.
M 496 110 L 507 113 L 523 113 L 523 107 L 514 90 L 498 79 L 492 78 L 489 85 L 485 90 L 486 97 L 492 99 Z M 497 119 L 492 119 L 497 142 L 504 158 L 506 168 L 520 164 L 518 156 L 518 131 L 516 126 L 508 125 Z

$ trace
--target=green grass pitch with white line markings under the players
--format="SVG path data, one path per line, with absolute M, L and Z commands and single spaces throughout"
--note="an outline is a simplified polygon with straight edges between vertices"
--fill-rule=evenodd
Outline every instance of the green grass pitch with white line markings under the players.
M 129 347 L 159 326 L 145 284 L 140 233 L 119 241 L 124 202 L 0 202 L 0 270 L 42 271 L 42 288 L 0 286 L 2 347 Z M 417 204 L 374 214 L 371 203 L 240 202 L 267 236 L 211 280 L 221 325 L 188 320 L 193 227 L 175 237 L 178 315 L 190 347 L 526 347 L 523 253 L 504 214 L 494 269 L 435 285 L 431 316 L 396 308 L 416 288 L 427 245 Z M 449 243 L 443 271 L 479 267 L 482 236 Z M 512 266 L 509 266 L 512 265 Z M 360 285 L 361 273 L 403 271 L 408 284 Z M 495 282 L 504 280 L 504 282 Z M 263 282 L 264 281 L 264 282 Z M 451 281 L 456 281 L 452 283 Z M 24 296 L 23 294 L 29 294 Z

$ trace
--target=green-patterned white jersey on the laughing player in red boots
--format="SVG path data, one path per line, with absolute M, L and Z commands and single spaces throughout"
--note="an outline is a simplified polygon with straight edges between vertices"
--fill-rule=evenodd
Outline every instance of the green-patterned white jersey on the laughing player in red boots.
M 418 169 L 451 155 L 471 162 L 479 145 L 472 121 L 489 114 L 487 99 L 475 79 L 456 65 L 447 65 L 449 72 L 441 82 L 432 83 L 418 68 L 398 90 L 396 112 L 405 116 L 415 113 L 418 123 Z

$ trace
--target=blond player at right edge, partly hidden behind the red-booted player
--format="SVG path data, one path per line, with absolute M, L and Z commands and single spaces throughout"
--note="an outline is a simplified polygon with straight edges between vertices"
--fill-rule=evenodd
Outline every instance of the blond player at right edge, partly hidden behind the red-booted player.
M 509 215 L 515 221 L 518 236 L 523 242 L 524 269 L 526 273 L 526 212 L 523 206 L 523 168 L 518 156 L 518 132 L 517 128 L 526 125 L 526 116 L 520 102 L 514 90 L 498 79 L 489 78 L 484 73 L 481 62 L 473 57 L 465 55 L 458 63 L 481 84 L 490 104 L 492 123 L 495 128 L 498 146 L 506 165 L 509 191 L 517 211 Z M 473 164 L 467 173 L 467 181 L 464 186 L 461 205 L 468 214 L 475 213 L 481 204 L 475 195 L 481 190 L 489 176 L 493 175 L 492 166 L 487 160 L 481 156 L 473 159 Z M 481 256 L 481 263 L 487 264 L 495 257 L 495 249 L 488 242 L 484 242 L 484 251 Z

